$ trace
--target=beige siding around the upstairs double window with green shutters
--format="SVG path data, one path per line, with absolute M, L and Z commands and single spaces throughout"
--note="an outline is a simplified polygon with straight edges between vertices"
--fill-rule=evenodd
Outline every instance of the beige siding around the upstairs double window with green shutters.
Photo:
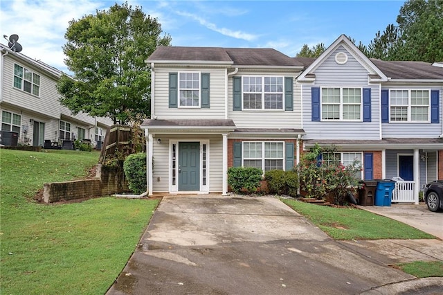
M 235 76 L 242 75 L 271 75 L 280 77 L 293 77 L 293 110 L 242 110 L 233 111 L 233 78 L 229 78 L 228 118 L 233 119 L 238 128 L 301 128 L 301 92 L 296 84 L 295 77 L 298 73 L 293 72 L 257 72 L 239 71 Z M 284 93 L 283 93 L 284 98 Z

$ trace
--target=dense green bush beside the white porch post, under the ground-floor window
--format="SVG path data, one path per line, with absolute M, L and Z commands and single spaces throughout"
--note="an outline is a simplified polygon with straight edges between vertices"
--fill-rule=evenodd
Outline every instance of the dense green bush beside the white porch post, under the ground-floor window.
M 262 170 L 253 167 L 231 167 L 228 169 L 228 184 L 235 193 L 246 190 L 255 193 L 262 180 Z

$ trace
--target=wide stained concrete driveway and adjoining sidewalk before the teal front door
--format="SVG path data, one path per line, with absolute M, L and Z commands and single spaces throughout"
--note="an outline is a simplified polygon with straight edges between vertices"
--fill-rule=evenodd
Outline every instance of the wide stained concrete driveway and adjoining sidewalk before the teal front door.
M 107 294 L 429 294 L 442 278 L 389 265 L 442 260 L 442 243 L 335 242 L 271 197 L 164 197 Z

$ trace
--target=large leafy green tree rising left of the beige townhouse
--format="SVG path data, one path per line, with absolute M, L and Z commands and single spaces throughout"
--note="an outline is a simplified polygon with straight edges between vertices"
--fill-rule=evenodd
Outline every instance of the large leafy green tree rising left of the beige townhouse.
M 108 116 L 125 124 L 150 116 L 150 69 L 145 60 L 159 45 L 161 24 L 141 7 L 119 6 L 97 10 L 69 22 L 63 52 L 73 78 L 57 82 L 60 102 L 73 114 Z

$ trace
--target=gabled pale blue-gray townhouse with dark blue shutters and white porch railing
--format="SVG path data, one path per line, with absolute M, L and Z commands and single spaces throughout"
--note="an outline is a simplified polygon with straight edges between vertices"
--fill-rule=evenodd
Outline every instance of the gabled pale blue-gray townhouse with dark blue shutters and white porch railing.
M 417 203 L 443 179 L 441 65 L 368 59 L 341 35 L 297 82 L 305 149 L 335 145 L 344 165 L 361 161 L 363 179 L 401 177 L 392 202 Z

